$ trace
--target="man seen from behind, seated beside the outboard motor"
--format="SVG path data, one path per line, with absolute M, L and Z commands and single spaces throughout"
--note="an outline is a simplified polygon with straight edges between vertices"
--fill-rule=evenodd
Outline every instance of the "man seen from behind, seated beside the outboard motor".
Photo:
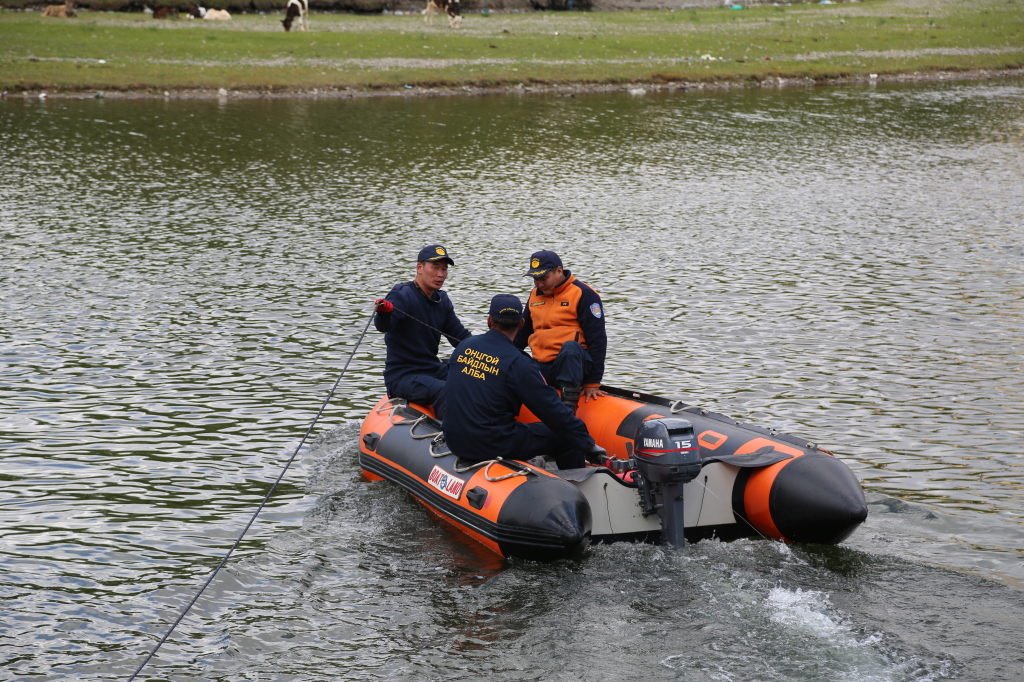
M 522 303 L 511 294 L 490 299 L 487 333 L 459 344 L 449 358 L 444 440 L 459 458 L 529 460 L 551 455 L 561 469 L 603 455 L 584 424 L 544 383 L 537 363 L 513 344 L 523 325 Z M 515 420 L 525 404 L 541 423 Z

